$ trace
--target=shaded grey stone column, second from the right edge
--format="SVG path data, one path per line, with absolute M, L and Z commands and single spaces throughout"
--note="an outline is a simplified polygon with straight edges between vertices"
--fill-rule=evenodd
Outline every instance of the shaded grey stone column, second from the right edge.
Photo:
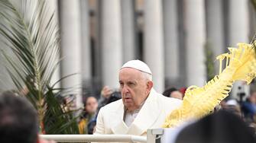
M 212 49 L 214 60 L 225 52 L 222 0 L 206 0 L 207 46 Z M 215 74 L 219 74 L 219 61 L 215 62 Z

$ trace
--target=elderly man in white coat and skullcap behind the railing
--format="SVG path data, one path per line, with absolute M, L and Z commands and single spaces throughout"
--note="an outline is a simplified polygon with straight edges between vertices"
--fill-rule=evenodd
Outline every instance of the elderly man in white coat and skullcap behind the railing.
M 181 100 L 154 91 L 151 69 L 140 60 L 120 68 L 119 84 L 122 100 L 99 110 L 94 134 L 147 135 L 147 129 L 160 128 L 181 104 Z

